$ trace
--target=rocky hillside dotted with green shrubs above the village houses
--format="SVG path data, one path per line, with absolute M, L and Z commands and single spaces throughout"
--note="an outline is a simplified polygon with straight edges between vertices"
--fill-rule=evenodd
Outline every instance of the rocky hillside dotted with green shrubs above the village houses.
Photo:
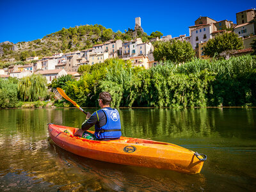
M 158 32 L 158 31 L 157 31 Z M 108 40 L 132 40 L 140 37 L 143 42 L 147 42 L 154 35 L 148 36 L 147 33 L 141 33 L 133 29 L 125 30 L 125 33 L 112 29 L 106 29 L 104 26 L 95 24 L 76 26 L 75 28 L 61 29 L 42 39 L 31 42 L 3 42 L 0 44 L 0 61 L 24 61 L 30 56 L 52 56 L 56 52 L 72 52 L 88 49 L 95 44 L 102 44 Z M 163 34 L 162 34 L 163 35 Z

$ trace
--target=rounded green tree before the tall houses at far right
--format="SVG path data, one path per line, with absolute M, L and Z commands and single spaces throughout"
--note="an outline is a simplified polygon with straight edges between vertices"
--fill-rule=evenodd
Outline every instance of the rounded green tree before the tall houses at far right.
M 210 39 L 204 47 L 204 54 L 219 56 L 223 51 L 243 49 L 243 40 L 235 33 L 223 33 Z

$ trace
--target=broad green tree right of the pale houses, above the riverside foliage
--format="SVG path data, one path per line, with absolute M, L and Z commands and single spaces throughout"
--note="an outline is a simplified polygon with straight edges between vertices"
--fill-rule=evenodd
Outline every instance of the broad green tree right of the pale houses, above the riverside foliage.
M 154 44 L 154 58 L 156 61 L 170 60 L 174 63 L 190 61 L 195 56 L 195 51 L 188 42 L 172 40 L 170 42 L 156 42 Z

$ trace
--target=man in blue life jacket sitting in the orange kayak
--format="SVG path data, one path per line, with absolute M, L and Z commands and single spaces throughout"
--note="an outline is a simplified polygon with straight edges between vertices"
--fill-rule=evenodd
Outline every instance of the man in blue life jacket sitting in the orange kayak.
M 111 95 L 109 92 L 99 94 L 100 110 L 92 115 L 87 114 L 86 120 L 82 124 L 82 129 L 78 129 L 74 136 L 80 136 L 88 140 L 117 140 L 121 136 L 120 116 L 116 109 L 110 108 Z M 87 130 L 95 125 L 95 133 Z

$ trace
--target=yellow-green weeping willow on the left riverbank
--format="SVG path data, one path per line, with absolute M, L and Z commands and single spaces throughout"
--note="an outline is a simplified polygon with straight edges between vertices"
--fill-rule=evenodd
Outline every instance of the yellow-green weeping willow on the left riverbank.
M 18 93 L 22 101 L 43 100 L 47 97 L 47 80 L 40 74 L 23 77 L 18 84 Z

